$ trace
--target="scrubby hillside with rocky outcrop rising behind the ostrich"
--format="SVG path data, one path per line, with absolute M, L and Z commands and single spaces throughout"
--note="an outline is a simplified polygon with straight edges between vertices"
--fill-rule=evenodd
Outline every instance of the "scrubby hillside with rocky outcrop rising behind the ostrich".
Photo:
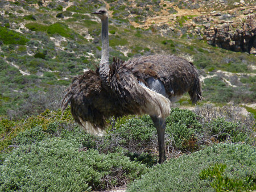
M 254 1 L 31 0 L 1 1 L 1 116 L 58 108 L 72 77 L 98 65 L 101 24 L 90 12 L 102 5 L 110 10 L 110 58 L 184 57 L 200 69 L 205 102 L 255 110 Z

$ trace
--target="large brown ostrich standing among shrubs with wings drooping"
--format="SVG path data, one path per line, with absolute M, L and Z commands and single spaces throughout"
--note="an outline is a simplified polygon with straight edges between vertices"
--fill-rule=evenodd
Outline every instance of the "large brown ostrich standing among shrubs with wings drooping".
M 171 55 L 150 55 L 128 61 L 109 62 L 108 12 L 96 14 L 102 23 L 100 67 L 87 69 L 73 78 L 61 108 L 70 104 L 77 123 L 94 135 L 104 135 L 106 119 L 115 116 L 149 114 L 158 134 L 159 163 L 166 160 L 164 131 L 171 102 L 188 92 L 191 101 L 200 101 L 201 84 L 196 67 Z

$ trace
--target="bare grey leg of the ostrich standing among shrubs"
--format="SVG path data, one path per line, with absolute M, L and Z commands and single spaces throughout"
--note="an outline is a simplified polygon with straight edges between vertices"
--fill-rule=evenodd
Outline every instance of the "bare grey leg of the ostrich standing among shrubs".
M 166 120 L 156 116 L 150 116 L 158 133 L 159 164 L 166 160 L 166 151 L 164 149 L 164 131 L 166 130 Z

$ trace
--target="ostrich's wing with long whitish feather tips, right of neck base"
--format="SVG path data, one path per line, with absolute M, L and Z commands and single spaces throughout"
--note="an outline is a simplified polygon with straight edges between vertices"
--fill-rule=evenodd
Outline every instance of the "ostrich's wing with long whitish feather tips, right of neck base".
M 150 114 L 165 118 L 170 113 L 170 101 L 139 84 L 137 77 L 118 59 L 113 59 L 110 65 L 109 82 L 119 107 L 126 114 Z

